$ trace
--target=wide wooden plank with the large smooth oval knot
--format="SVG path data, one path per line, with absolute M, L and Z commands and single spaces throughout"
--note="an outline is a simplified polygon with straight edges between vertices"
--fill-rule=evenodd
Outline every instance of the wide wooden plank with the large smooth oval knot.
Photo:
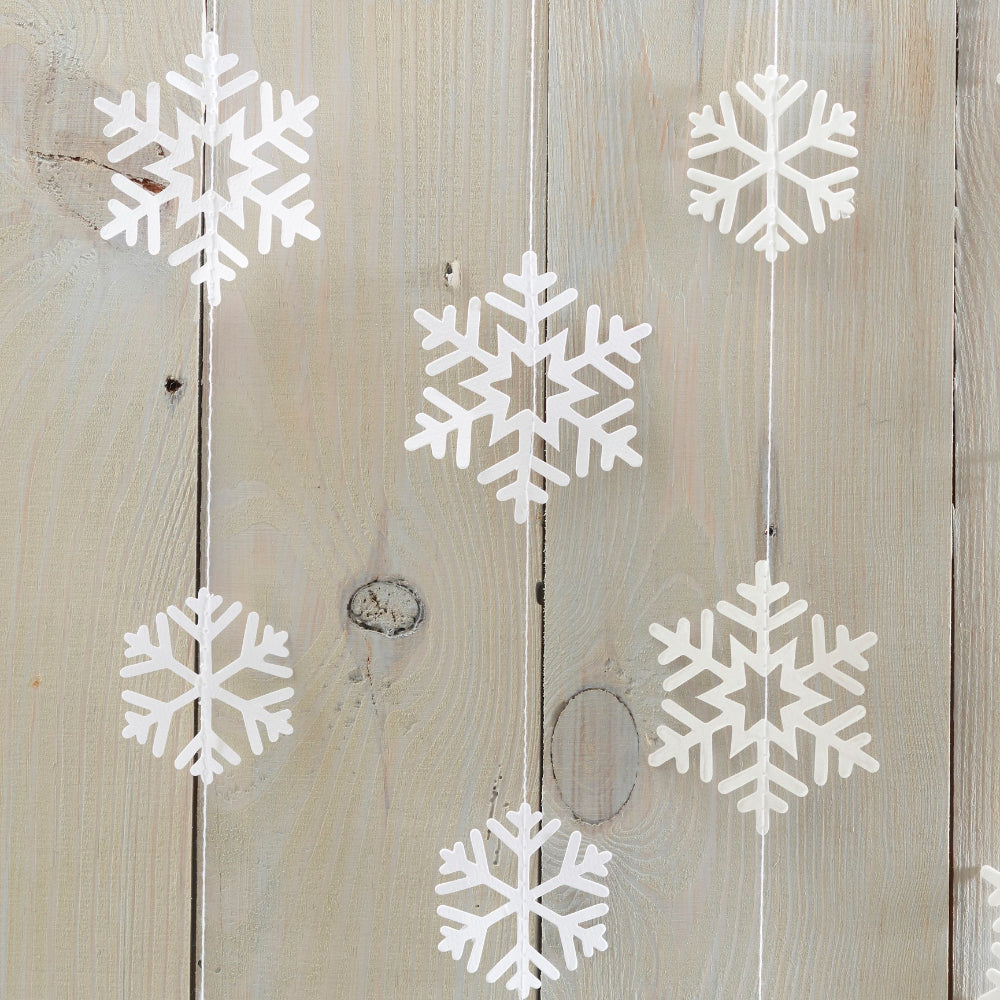
M 663 6 L 552 16 L 550 263 L 656 332 L 636 394 L 642 469 L 559 492 L 546 521 L 547 740 L 574 695 L 603 687 L 635 718 L 642 761 L 621 810 L 584 828 L 616 855 L 613 950 L 546 995 L 945 996 L 949 11 L 781 5 L 782 68 L 858 112 L 862 176 L 854 219 L 777 265 L 775 577 L 831 635 L 878 633 L 865 702 L 882 771 L 831 779 L 775 820 L 762 892 L 752 819 L 644 761 L 664 673 L 648 624 L 697 627 L 765 551 L 768 268 L 686 216 L 685 171 L 687 113 L 764 69 L 771 22 L 759 5 Z M 580 824 L 545 763 L 546 811 L 568 832 Z M 892 946 L 875 946 L 890 925 Z

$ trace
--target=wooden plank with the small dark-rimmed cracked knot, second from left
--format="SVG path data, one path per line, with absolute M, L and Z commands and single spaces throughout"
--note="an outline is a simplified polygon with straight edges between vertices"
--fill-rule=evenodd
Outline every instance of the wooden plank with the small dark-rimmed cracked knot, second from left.
M 206 995 L 492 996 L 489 955 L 472 977 L 438 953 L 434 885 L 521 801 L 524 529 L 475 480 L 485 447 L 458 471 L 403 441 L 414 308 L 464 312 L 526 248 L 527 5 L 221 8 L 227 51 L 319 97 L 324 238 L 254 258 L 215 315 L 212 586 L 288 630 L 296 695 L 294 737 L 210 790 Z M 419 597 L 412 634 L 350 621 L 374 579 Z

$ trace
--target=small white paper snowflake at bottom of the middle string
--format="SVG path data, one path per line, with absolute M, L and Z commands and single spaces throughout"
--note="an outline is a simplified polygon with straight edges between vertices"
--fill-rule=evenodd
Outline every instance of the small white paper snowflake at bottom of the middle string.
M 558 874 L 532 887 L 532 858 L 559 829 L 559 820 L 553 819 L 532 834 L 531 831 L 541 821 L 542 814 L 535 812 L 527 802 L 517 812 L 507 813 L 507 822 L 514 828 L 513 832 L 492 817 L 486 821 L 490 833 L 517 857 L 517 882 L 514 885 L 508 885 L 490 871 L 483 835 L 479 830 L 473 830 L 469 835 L 472 842 L 471 858 L 465 853 L 465 845 L 461 841 L 450 850 L 441 851 L 444 862 L 440 868 L 441 874 L 460 877 L 435 887 L 435 891 L 442 896 L 485 887 L 504 900 L 488 913 L 469 913 L 454 906 L 439 906 L 438 916 L 458 926 L 445 925 L 441 928 L 438 950 L 450 952 L 451 957 L 458 961 L 465 952 L 465 946 L 471 944 L 467 969 L 469 972 L 476 972 L 490 928 L 505 917 L 515 917 L 517 936 L 514 946 L 490 969 L 486 974 L 486 981 L 495 983 L 508 970 L 513 970 L 507 980 L 507 989 L 517 990 L 521 1000 L 527 997 L 530 990 L 541 987 L 540 976 L 559 978 L 559 969 L 531 943 L 532 914 L 558 930 L 563 961 L 571 972 L 577 966 L 577 941 L 580 942 L 580 950 L 585 958 L 590 958 L 595 951 L 605 951 L 608 947 L 604 937 L 604 924 L 588 924 L 588 921 L 603 917 L 608 912 L 606 903 L 595 903 L 572 913 L 562 914 L 542 903 L 542 897 L 559 888 L 576 889 L 593 896 L 607 896 L 607 886 L 595 882 L 590 876 L 603 878 L 608 874 L 607 864 L 611 860 L 611 852 L 599 851 L 593 844 L 589 844 L 581 858 L 582 838 L 579 831 L 574 830 L 570 834 Z M 538 974 L 534 969 L 538 970 Z

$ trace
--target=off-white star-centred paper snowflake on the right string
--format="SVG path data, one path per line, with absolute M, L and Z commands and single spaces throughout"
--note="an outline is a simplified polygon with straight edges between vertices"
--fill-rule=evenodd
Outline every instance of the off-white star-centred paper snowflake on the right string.
M 701 780 L 708 782 L 713 775 L 713 740 L 716 733 L 729 731 L 729 756 L 736 757 L 748 748 L 753 748 L 754 757 L 750 766 L 732 777 L 719 782 L 719 791 L 724 795 L 751 786 L 746 796 L 740 799 L 740 812 L 753 812 L 757 816 L 757 830 L 765 834 L 771 822 L 772 813 L 785 813 L 788 803 L 780 791 L 804 796 L 808 786 L 780 767 L 774 760 L 775 751 L 783 751 L 788 757 L 798 759 L 798 734 L 803 733 L 814 744 L 813 778 L 817 785 L 825 785 L 830 769 L 830 754 L 835 753 L 840 776 L 847 778 L 855 765 L 865 771 L 878 770 L 878 761 L 864 751 L 871 742 L 871 734 L 847 735 L 847 730 L 865 717 L 865 709 L 855 705 L 827 722 L 819 722 L 810 717 L 810 712 L 829 705 L 831 698 L 811 688 L 809 682 L 817 676 L 825 677 L 831 684 L 843 688 L 855 696 L 864 694 L 864 686 L 852 675 L 838 669 L 846 664 L 856 671 L 868 669 L 864 657 L 866 650 L 877 642 L 874 632 L 866 632 L 851 639 L 847 629 L 837 627 L 837 638 L 832 649 L 827 648 L 826 629 L 823 618 L 813 615 L 812 619 L 812 659 L 804 666 L 795 665 L 796 640 L 790 639 L 780 649 L 772 650 L 775 633 L 797 618 L 807 608 L 805 601 L 793 601 L 784 608 L 776 604 L 788 594 L 787 583 L 771 583 L 767 563 L 761 561 L 756 567 L 756 582 L 741 583 L 739 595 L 746 600 L 752 610 L 738 608 L 722 601 L 719 614 L 723 618 L 749 630 L 754 639 L 753 648 L 743 645 L 734 635 L 730 635 L 730 663 L 720 663 L 714 656 L 715 617 L 705 610 L 701 615 L 701 643 L 696 646 L 691 641 L 691 623 L 682 618 L 677 630 L 672 632 L 662 625 L 650 625 L 650 634 L 666 646 L 660 653 L 659 662 L 663 666 L 675 660 L 687 660 L 687 665 L 667 677 L 663 688 L 670 693 L 695 680 L 707 680 L 714 684 L 708 691 L 697 696 L 698 701 L 718 714 L 703 720 L 683 708 L 676 701 L 667 698 L 663 710 L 671 720 L 680 723 L 682 730 L 664 725 L 657 729 L 663 746 L 649 756 L 654 767 L 674 761 L 677 770 L 686 774 L 690 766 L 690 753 L 697 747 L 700 753 Z M 782 697 L 790 701 L 780 710 L 781 724 L 775 725 L 767 717 L 747 719 L 746 706 L 733 696 L 747 687 L 750 670 L 760 678 L 769 678 L 777 671 L 777 685 L 769 692 L 769 698 Z

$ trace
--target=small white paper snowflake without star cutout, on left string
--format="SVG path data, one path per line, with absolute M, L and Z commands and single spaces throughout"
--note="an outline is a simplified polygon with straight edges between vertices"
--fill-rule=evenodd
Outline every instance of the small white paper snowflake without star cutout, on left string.
M 268 739 L 274 743 L 279 736 L 291 733 L 288 722 L 292 714 L 284 708 L 277 712 L 270 711 L 272 705 L 287 701 L 294 693 L 291 688 L 281 688 L 258 698 L 241 698 L 228 690 L 224 685 L 243 670 L 256 670 L 258 673 L 271 677 L 291 677 L 290 667 L 280 663 L 272 663 L 270 656 L 287 656 L 288 648 L 285 642 L 287 632 L 275 632 L 270 625 L 264 626 L 264 634 L 257 641 L 257 627 L 260 617 L 251 611 L 247 615 L 246 629 L 243 633 L 243 647 L 240 655 L 221 670 L 214 670 L 212 665 L 212 642 L 243 610 L 239 601 L 230 604 L 215 620 L 212 615 L 222 604 L 222 598 L 210 594 L 204 587 L 198 591 L 197 597 L 189 597 L 187 606 L 194 613 L 194 618 L 188 617 L 179 608 L 169 607 L 167 613 L 162 611 L 156 616 L 156 642 L 149 634 L 149 629 L 143 625 L 138 632 L 125 636 L 125 656 L 141 656 L 144 659 L 130 663 L 122 668 L 122 677 L 139 677 L 159 670 L 169 670 L 181 678 L 187 685 L 187 690 L 172 701 L 159 701 L 135 691 L 122 692 L 123 700 L 139 712 L 126 712 L 126 726 L 122 735 L 126 739 L 135 738 L 145 745 L 153 730 L 153 756 L 162 757 L 167 745 L 167 735 L 174 716 L 186 705 L 198 703 L 198 732 L 177 755 L 174 766 L 178 769 L 191 763 L 191 773 L 201 776 L 206 784 L 210 784 L 216 774 L 222 773 L 222 763 L 215 756 L 219 754 L 230 764 L 238 764 L 240 755 L 223 740 L 212 728 L 215 705 L 221 703 L 235 709 L 243 717 L 250 749 L 255 754 L 264 750 L 260 738 L 260 727 L 263 726 Z M 199 673 L 181 663 L 173 653 L 170 639 L 169 615 L 189 636 L 198 643 Z

